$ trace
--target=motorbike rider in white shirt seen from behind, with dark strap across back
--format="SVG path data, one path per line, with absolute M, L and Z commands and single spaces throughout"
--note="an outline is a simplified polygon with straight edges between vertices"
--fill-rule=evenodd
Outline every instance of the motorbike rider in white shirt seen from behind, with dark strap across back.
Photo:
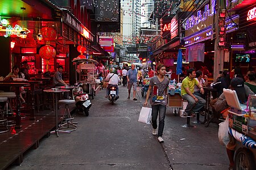
M 121 82 L 121 79 L 119 78 L 119 76 L 117 75 L 117 70 L 115 70 L 114 68 L 110 69 L 110 73 L 106 76 L 105 79 L 107 82 L 109 82 L 108 87 L 106 88 L 106 98 L 109 97 L 109 93 L 110 93 L 110 87 L 115 87 L 117 88 L 117 99 L 119 98 L 118 96 L 118 83 Z

